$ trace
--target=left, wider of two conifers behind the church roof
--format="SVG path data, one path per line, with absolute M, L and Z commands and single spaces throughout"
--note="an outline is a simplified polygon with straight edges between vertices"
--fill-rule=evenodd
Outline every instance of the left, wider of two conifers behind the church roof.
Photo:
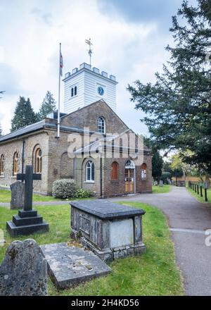
M 32 109 L 29 98 L 26 100 L 25 97 L 20 96 L 14 114 L 11 120 L 11 132 L 37 122 L 37 116 Z

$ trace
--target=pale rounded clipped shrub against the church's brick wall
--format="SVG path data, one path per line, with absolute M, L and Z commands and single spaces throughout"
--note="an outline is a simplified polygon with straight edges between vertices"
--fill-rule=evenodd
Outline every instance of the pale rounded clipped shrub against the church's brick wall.
M 75 193 L 77 191 L 77 187 L 73 180 L 56 180 L 53 182 L 53 190 L 52 194 L 56 198 L 72 198 L 75 197 Z

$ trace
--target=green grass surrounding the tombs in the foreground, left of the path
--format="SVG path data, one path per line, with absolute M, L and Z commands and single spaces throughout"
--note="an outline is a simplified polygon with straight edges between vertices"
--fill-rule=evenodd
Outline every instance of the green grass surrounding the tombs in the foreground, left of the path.
M 175 264 L 174 246 L 161 211 L 153 206 L 136 202 L 124 203 L 144 209 L 143 240 L 146 254 L 119 259 L 110 263 L 110 275 L 91 280 L 78 287 L 57 291 L 49 280 L 50 295 L 182 295 L 183 285 L 179 269 Z M 30 235 L 39 244 L 66 242 L 70 235 L 70 206 L 37 206 L 35 209 L 50 224 L 49 233 Z M 0 247 L 0 263 L 8 244 L 17 238 L 6 233 L 6 221 L 10 221 L 14 210 L 0 207 L 0 228 L 4 230 L 6 245 Z M 26 237 L 18 237 L 24 240 Z

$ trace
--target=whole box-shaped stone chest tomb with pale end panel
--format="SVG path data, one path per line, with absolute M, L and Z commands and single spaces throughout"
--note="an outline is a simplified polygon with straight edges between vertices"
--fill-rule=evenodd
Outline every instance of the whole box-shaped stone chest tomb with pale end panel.
M 145 252 L 145 211 L 104 200 L 71 202 L 71 237 L 79 239 L 103 261 Z

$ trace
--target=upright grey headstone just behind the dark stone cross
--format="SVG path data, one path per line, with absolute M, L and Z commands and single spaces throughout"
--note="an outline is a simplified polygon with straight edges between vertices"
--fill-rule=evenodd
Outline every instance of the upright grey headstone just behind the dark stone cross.
M 16 181 L 11 185 L 11 209 L 23 209 L 24 184 Z

